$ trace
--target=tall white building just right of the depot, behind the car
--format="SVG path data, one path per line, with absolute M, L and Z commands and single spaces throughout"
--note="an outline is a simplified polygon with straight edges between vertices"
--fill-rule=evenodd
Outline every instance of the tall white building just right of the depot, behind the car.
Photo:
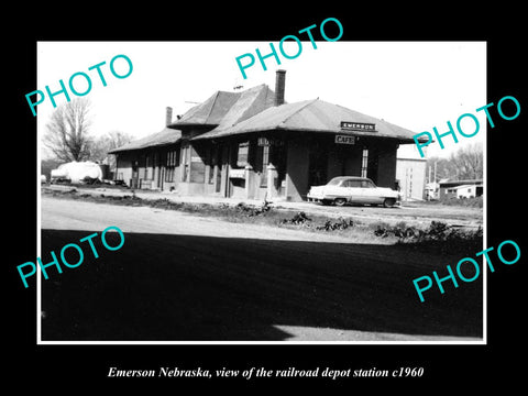
M 396 153 L 396 180 L 402 200 L 426 199 L 427 160 L 415 144 L 400 145 Z

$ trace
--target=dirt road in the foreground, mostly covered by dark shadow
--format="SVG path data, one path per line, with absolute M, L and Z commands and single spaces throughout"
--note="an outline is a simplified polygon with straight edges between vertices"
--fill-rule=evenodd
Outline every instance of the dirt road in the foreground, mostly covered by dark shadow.
M 405 246 L 42 198 L 42 256 L 117 226 L 119 251 L 85 253 L 42 284 L 42 339 L 465 340 L 482 337 L 482 285 L 420 302 L 411 280 L 446 268 Z M 86 248 L 89 249 L 89 248 Z M 88 250 L 86 251 L 88 252 Z M 58 255 L 58 254 L 57 254 Z

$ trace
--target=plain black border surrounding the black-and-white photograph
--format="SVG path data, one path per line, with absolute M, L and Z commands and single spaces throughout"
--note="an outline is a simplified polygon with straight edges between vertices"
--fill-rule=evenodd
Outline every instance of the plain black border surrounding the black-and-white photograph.
M 461 9 L 446 2 L 422 8 L 376 3 L 373 9 L 353 3 L 346 7 L 322 7 L 318 2 L 244 3 L 198 9 L 187 4 L 155 6 L 123 3 L 114 11 L 102 4 L 42 4 L 28 10 L 11 11 L 12 23 L 2 26 L 4 56 L 3 89 L 3 163 L 2 187 L 6 194 L 2 238 L 4 260 L 3 320 L 6 364 L 3 377 L 16 389 L 42 387 L 43 392 L 106 392 L 116 389 L 154 389 L 167 387 L 184 392 L 212 386 L 263 388 L 272 385 L 279 392 L 284 385 L 295 387 L 375 389 L 389 385 L 394 391 L 416 388 L 432 391 L 476 391 L 482 385 L 507 383 L 512 388 L 522 378 L 524 314 L 522 290 L 527 250 L 520 226 L 526 220 L 526 98 L 520 86 L 526 70 L 519 22 L 520 3 L 506 2 L 487 9 Z M 42 10 L 40 9 L 42 8 Z M 7 16 L 7 15 L 6 15 Z M 252 41 L 277 42 L 284 35 L 320 24 L 326 18 L 341 21 L 341 41 L 486 41 L 487 102 L 497 103 L 504 96 L 516 97 L 521 106 L 514 121 L 496 120 L 487 136 L 487 246 L 504 240 L 516 241 L 521 249 L 520 261 L 512 266 L 496 265 L 487 276 L 487 345 L 36 345 L 36 290 L 24 289 L 16 265 L 36 257 L 36 119 L 32 117 L 25 94 L 36 86 L 37 41 Z M 332 36 L 329 33 L 329 36 Z M 301 61 L 299 61 L 301 62 Z M 453 58 L 453 63 L 458 59 Z M 213 59 L 211 59 L 213 67 Z M 484 106 L 485 103 L 482 103 Z M 496 110 L 495 110 L 496 111 Z M 455 117 L 458 114 L 453 114 Z M 4 156 L 6 157 L 6 156 Z M 520 358 L 520 359 L 519 359 Z M 179 369 L 267 370 L 315 367 L 396 370 L 400 366 L 424 367 L 421 378 L 108 378 L 108 369 Z M 321 369 L 322 370 L 322 369 Z M 8 385 L 8 384 L 6 384 Z M 36 388 L 36 392 L 40 389 Z

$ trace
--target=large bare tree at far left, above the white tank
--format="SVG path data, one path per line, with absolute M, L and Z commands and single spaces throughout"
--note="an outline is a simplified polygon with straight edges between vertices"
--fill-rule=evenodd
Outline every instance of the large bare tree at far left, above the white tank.
M 46 124 L 43 143 L 57 160 L 64 162 L 84 161 L 90 155 L 91 138 L 88 133 L 90 101 L 77 98 L 61 105 Z

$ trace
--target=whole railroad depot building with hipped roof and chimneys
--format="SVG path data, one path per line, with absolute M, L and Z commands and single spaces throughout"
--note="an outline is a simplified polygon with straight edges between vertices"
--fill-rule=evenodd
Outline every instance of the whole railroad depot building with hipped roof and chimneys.
M 110 151 L 116 178 L 132 188 L 244 199 L 300 201 L 336 176 L 366 176 L 395 188 L 396 151 L 414 132 L 319 99 L 286 103 L 260 85 L 217 91 L 155 134 Z

